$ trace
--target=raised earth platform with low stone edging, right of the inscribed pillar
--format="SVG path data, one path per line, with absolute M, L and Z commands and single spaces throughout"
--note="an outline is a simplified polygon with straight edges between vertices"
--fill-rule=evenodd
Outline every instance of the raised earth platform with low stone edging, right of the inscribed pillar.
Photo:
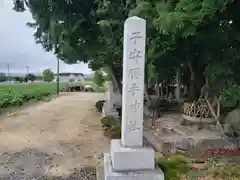
M 208 129 L 198 133 L 188 126 L 173 124 L 174 121 L 180 121 L 178 117 L 181 115 L 164 116 L 157 120 L 155 129 L 145 128 L 144 137 L 157 151 L 165 155 L 186 151 L 193 156 L 200 156 L 207 150 L 240 148 L 240 138 L 230 138 Z

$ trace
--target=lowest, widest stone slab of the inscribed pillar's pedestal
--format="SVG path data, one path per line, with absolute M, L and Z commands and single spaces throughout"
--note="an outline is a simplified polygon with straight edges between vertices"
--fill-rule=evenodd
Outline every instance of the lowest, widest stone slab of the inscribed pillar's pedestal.
M 160 169 L 115 172 L 110 154 L 104 154 L 104 180 L 164 180 L 164 174 Z

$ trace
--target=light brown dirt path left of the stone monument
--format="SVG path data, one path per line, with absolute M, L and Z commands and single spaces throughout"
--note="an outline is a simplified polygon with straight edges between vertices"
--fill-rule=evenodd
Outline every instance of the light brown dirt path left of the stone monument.
M 0 176 L 15 173 L 63 176 L 101 162 L 109 148 L 100 93 L 69 93 L 0 117 Z

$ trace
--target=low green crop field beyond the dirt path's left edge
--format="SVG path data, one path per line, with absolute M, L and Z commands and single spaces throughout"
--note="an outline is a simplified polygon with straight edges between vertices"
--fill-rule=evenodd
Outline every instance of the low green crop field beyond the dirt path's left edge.
M 95 92 L 102 92 L 104 88 L 98 88 L 92 81 L 73 83 L 71 85 L 91 85 Z M 60 84 L 60 92 L 66 91 L 66 84 Z M 56 83 L 41 84 L 1 84 L 0 108 L 20 106 L 29 100 L 41 100 L 57 93 Z

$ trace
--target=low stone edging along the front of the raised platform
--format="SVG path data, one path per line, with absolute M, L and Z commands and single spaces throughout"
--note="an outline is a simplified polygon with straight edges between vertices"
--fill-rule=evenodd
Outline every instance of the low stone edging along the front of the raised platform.
M 184 150 L 193 156 L 200 156 L 205 151 L 211 149 L 239 149 L 240 138 L 213 137 L 213 138 L 193 138 L 191 136 L 172 135 L 168 138 L 157 139 L 148 131 L 144 132 L 144 137 L 159 152 L 165 155 L 174 154 Z

